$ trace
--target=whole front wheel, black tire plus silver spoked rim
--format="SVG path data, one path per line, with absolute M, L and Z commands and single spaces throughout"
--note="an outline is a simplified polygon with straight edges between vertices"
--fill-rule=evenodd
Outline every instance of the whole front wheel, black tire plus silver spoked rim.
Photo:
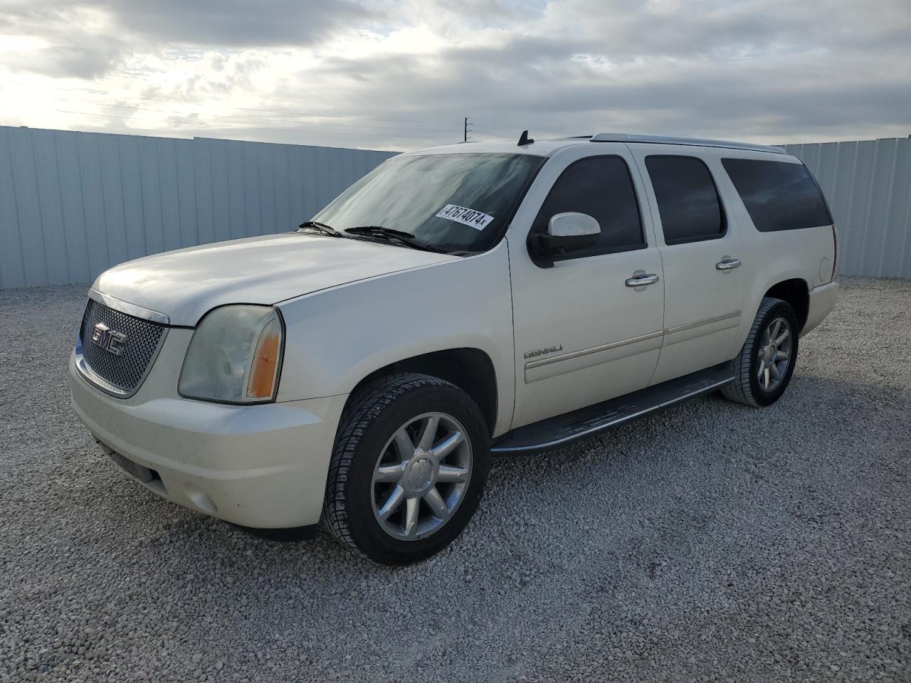
M 345 408 L 322 521 L 376 562 L 416 562 L 466 527 L 489 467 L 486 422 L 466 392 L 423 374 L 383 377 Z

